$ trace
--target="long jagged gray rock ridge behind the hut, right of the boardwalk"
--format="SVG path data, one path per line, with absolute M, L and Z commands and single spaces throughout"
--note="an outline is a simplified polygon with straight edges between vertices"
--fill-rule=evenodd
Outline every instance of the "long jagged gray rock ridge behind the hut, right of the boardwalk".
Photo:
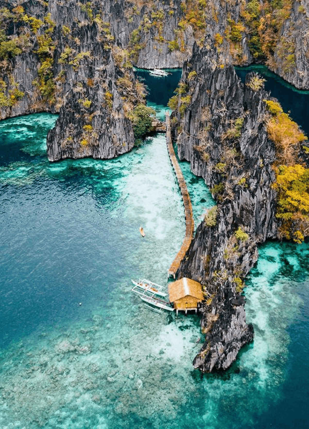
M 228 368 L 252 340 L 241 295 L 243 278 L 257 260 L 256 243 L 277 236 L 271 168 L 275 146 L 267 137 L 263 101 L 267 94 L 262 86 L 250 88 L 254 74 L 243 86 L 233 66 L 215 64 L 211 49 L 195 46 L 183 69 L 180 88 L 186 85 L 186 94 L 179 96 L 174 121 L 181 127 L 180 159 L 204 177 L 218 201 L 216 214 L 199 225 L 179 272 L 205 285 L 205 344 L 194 366 L 206 372 Z M 179 109 L 187 97 L 182 117 Z

